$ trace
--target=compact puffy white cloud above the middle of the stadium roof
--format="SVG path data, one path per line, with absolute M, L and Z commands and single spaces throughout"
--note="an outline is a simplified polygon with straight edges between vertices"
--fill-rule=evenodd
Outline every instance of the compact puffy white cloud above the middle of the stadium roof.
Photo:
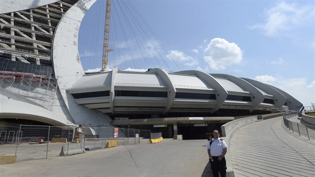
M 223 38 L 211 39 L 204 52 L 209 53 L 203 59 L 213 70 L 225 69 L 226 66 L 239 63 L 242 60 L 242 51 L 234 42 Z

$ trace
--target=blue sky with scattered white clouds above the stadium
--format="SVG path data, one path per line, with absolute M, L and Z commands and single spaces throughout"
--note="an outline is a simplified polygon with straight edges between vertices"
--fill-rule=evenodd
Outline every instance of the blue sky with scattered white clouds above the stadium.
M 101 67 L 104 8 L 79 29 L 84 70 Z M 313 0 L 113 0 L 111 16 L 109 68 L 226 73 L 315 102 Z

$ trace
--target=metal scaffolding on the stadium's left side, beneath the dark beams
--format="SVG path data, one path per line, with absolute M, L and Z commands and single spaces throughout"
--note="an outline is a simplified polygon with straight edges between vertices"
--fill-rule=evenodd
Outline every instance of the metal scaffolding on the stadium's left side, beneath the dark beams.
M 0 87 L 52 110 L 57 79 L 33 73 L 0 71 Z

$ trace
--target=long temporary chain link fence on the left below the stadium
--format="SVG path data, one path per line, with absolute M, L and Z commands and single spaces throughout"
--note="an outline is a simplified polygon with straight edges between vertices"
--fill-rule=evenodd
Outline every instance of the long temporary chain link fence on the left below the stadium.
M 149 143 L 150 130 L 114 127 L 38 126 L 0 122 L 0 155 L 16 161 L 69 155 L 111 146 Z M 61 153 L 61 152 L 65 153 Z

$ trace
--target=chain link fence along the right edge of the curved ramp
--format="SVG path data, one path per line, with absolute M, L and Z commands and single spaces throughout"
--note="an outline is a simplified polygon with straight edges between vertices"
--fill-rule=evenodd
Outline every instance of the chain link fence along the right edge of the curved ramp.
M 308 140 L 315 140 L 315 126 L 304 125 L 295 121 L 290 121 L 289 118 L 297 118 L 297 113 L 283 115 L 284 125 L 292 132 L 298 133 L 299 136 L 307 137 Z

